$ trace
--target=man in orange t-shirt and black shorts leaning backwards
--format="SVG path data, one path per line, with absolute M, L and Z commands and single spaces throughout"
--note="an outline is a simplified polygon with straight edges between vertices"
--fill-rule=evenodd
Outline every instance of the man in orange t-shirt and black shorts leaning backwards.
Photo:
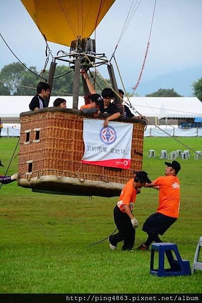
M 181 167 L 177 161 L 165 162 L 165 164 L 167 165 L 165 176 L 145 186 L 159 190 L 159 207 L 157 212 L 145 221 L 143 231 L 147 232 L 148 238 L 137 249 L 148 250 L 153 241 L 162 242 L 159 234 L 163 235 L 179 216 L 180 183 L 176 175 Z

